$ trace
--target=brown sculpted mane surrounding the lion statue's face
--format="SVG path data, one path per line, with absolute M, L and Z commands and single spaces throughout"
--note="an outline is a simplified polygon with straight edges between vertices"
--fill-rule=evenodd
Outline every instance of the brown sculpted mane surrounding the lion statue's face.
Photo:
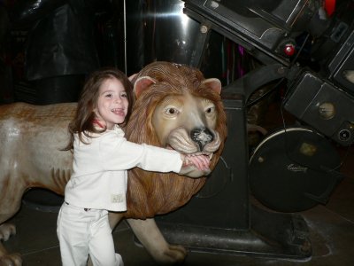
M 218 110 L 216 131 L 222 140 L 227 137 L 226 114 L 219 95 L 213 90 L 204 90 L 201 82 L 204 75 L 197 69 L 166 62 L 152 63 L 138 74 L 150 76 L 156 84 L 137 98 L 130 121 L 127 124 L 127 139 L 136 143 L 158 145 L 158 138 L 151 124 L 151 116 L 158 102 L 166 95 L 182 94 L 183 91 L 211 99 Z M 212 158 L 214 168 L 222 152 L 223 144 Z M 134 168 L 128 172 L 127 217 L 148 218 L 165 214 L 186 204 L 198 192 L 206 177 L 189 178 L 177 174 L 160 174 Z

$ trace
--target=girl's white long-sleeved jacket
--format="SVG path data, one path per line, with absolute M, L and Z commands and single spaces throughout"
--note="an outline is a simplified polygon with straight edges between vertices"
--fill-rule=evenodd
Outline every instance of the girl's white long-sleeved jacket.
M 73 143 L 73 175 L 65 187 L 65 201 L 76 207 L 126 211 L 127 169 L 181 170 L 180 153 L 127 141 L 119 126 Z

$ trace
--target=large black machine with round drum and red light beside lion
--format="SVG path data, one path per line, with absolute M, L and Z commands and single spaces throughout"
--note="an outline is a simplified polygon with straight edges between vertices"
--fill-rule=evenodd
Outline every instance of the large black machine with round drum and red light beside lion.
M 307 225 L 294 213 L 325 204 L 342 179 L 328 139 L 354 141 L 354 2 L 337 1 L 333 14 L 323 3 L 184 1 L 184 13 L 200 23 L 191 66 L 200 66 L 211 31 L 242 45 L 260 66 L 223 88 L 225 151 L 202 191 L 158 219 L 170 242 L 220 253 L 311 256 Z M 274 81 L 286 82 L 282 106 L 300 125 L 284 126 L 250 155 L 247 102 Z M 249 187 L 277 212 L 251 205 Z

